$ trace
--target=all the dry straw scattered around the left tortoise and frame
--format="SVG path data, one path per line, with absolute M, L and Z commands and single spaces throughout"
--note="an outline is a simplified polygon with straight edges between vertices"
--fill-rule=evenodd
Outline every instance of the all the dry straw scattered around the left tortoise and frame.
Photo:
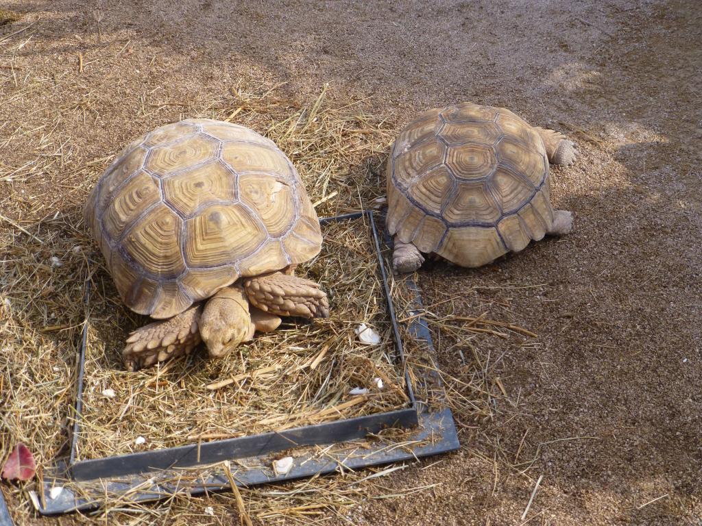
M 20 103 L 35 88 L 18 83 L 15 90 L 0 95 L 1 102 Z M 385 194 L 382 169 L 395 127 L 364 112 L 362 103 L 328 102 L 326 88 L 309 104 L 276 93 L 237 86 L 222 100 L 187 116 L 243 123 L 277 142 L 298 168 L 320 216 L 375 206 Z M 89 106 L 89 96 L 81 104 Z M 79 444 L 84 458 L 284 429 L 406 403 L 402 374 L 393 365 L 368 231 L 350 223 L 329 225 L 323 255 L 303 269 L 332 292 L 329 320 L 286 323 L 220 362 L 208 362 L 198 353 L 158 370 L 123 372 L 121 341 L 145 319 L 121 305 L 81 219 L 81 205 L 111 157 L 78 162 L 65 140 L 59 140 L 62 112 L 79 111 L 84 107 L 60 107 L 56 120 L 38 131 L 18 127 L 0 132 L 4 150 L 20 144 L 25 134 L 40 135 L 34 159 L 0 159 L 0 454 L 21 441 L 41 466 L 66 452 L 77 342 L 84 323 L 90 329 L 85 433 Z M 173 121 L 178 111 L 173 109 Z M 29 181 L 43 193 L 26 195 L 23 188 Z M 86 279 L 92 283 L 89 313 L 81 300 Z M 391 287 L 398 317 L 409 318 L 411 296 L 392 277 Z M 439 352 L 460 353 L 464 364 L 460 378 L 443 375 L 447 397 L 442 403 L 453 408 L 461 429 L 473 429 L 491 418 L 491 399 L 504 394 L 504 386 L 492 379 L 492 367 L 499 360 L 482 353 L 477 338 L 520 331 L 488 316 L 451 318 L 456 298 L 442 294 L 446 293 L 435 293 L 437 303 L 426 305 L 425 313 Z M 378 330 L 380 346 L 368 348 L 355 341 L 353 328 L 361 322 Z M 438 364 L 407 337 L 406 351 L 413 379 L 425 371 L 439 375 Z M 373 390 L 374 377 L 383 379 L 383 391 Z M 369 388 L 369 395 L 349 396 L 356 386 Z M 107 389 L 114 391 L 114 398 Z M 420 397 L 432 398 L 436 392 L 435 384 L 418 386 Z M 145 438 L 141 446 L 135 445 L 139 436 Z M 310 523 L 362 499 L 432 487 L 385 489 L 383 477 L 396 469 L 242 489 L 240 497 L 254 521 Z M 15 520 L 28 523 L 32 506 L 27 494 L 21 488 L 4 489 Z M 115 524 L 231 524 L 232 510 L 241 507 L 241 499 L 233 494 L 203 499 L 183 494 L 140 506 L 105 494 L 98 515 Z M 207 506 L 212 514 L 205 511 Z

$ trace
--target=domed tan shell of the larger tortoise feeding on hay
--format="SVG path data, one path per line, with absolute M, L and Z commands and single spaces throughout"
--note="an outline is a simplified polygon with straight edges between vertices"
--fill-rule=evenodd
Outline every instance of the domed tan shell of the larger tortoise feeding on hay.
M 240 276 L 311 259 L 314 207 L 271 140 L 235 124 L 188 119 L 128 145 L 85 209 L 124 303 L 169 318 Z

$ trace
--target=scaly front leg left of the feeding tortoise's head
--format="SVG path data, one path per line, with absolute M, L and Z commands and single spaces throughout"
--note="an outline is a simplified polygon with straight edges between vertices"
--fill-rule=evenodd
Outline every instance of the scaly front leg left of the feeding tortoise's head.
M 190 353 L 200 343 L 198 331 L 202 304 L 173 318 L 133 331 L 126 340 L 122 361 L 129 372 Z

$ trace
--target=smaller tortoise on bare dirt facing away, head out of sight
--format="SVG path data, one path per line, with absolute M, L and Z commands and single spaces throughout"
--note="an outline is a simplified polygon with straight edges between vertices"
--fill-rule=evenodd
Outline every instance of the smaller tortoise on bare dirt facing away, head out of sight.
M 568 234 L 573 215 L 551 207 L 548 163 L 575 158 L 564 135 L 508 109 L 464 102 L 421 114 L 388 159 L 393 268 L 414 271 L 423 253 L 480 267 L 545 234 Z

